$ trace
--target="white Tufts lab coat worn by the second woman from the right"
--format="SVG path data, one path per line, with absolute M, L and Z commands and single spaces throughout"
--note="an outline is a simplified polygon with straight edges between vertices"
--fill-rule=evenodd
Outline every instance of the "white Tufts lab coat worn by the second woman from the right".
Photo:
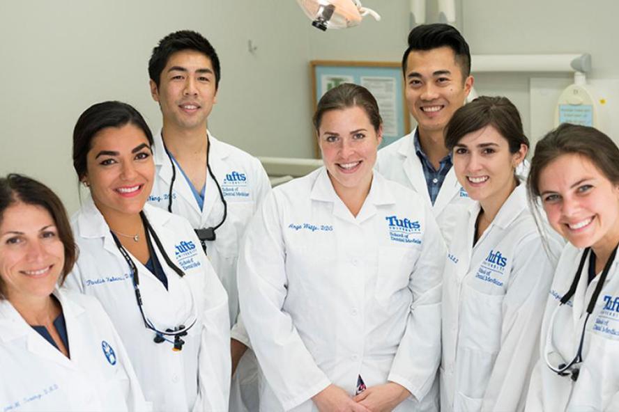
M 520 184 L 473 246 L 477 202 L 461 211 L 443 278 L 442 411 L 522 411 L 556 258 Z

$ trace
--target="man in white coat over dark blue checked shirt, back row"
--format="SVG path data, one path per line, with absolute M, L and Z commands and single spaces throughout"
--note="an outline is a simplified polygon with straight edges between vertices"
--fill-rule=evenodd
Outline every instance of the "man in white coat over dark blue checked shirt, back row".
M 469 205 L 456 179 L 443 130 L 473 87 L 471 54 L 462 35 L 448 24 L 422 24 L 408 35 L 402 58 L 406 104 L 418 126 L 379 150 L 376 170 L 411 187 L 431 204 L 445 243 L 450 244 L 454 212 Z

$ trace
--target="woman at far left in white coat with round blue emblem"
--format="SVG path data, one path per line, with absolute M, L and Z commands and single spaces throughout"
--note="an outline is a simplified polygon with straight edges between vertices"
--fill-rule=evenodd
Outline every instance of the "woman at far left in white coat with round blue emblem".
M 54 192 L 1 178 L 1 411 L 150 410 L 100 303 L 58 289 L 76 257 Z

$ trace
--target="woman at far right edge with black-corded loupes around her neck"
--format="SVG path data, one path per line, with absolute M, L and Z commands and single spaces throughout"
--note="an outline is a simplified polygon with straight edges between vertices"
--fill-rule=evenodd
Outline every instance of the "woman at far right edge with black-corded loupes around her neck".
M 619 411 L 619 148 L 564 124 L 535 147 L 531 207 L 565 239 L 527 411 Z

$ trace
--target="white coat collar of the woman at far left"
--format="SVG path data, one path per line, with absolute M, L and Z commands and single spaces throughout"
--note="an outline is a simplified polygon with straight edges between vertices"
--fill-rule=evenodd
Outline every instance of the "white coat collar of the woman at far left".
M 77 326 L 77 322 L 79 322 L 78 318 L 84 314 L 85 309 L 79 303 L 66 299 L 58 288 L 56 288 L 52 294 L 56 296 L 62 306 L 68 331 L 71 359 L 79 359 L 82 356 L 80 351 L 84 349 L 84 344 L 79 341 L 79 333 L 77 333 L 79 327 Z M 75 363 L 49 344 L 49 342 L 39 335 L 29 324 L 26 324 L 22 315 L 20 315 L 13 305 L 6 300 L 0 301 L 0 325 L 2 329 L 0 340 L 3 342 L 25 338 L 27 348 L 33 354 L 47 358 L 65 367 L 75 369 Z M 75 331 L 75 333 L 71 333 L 71 331 Z

